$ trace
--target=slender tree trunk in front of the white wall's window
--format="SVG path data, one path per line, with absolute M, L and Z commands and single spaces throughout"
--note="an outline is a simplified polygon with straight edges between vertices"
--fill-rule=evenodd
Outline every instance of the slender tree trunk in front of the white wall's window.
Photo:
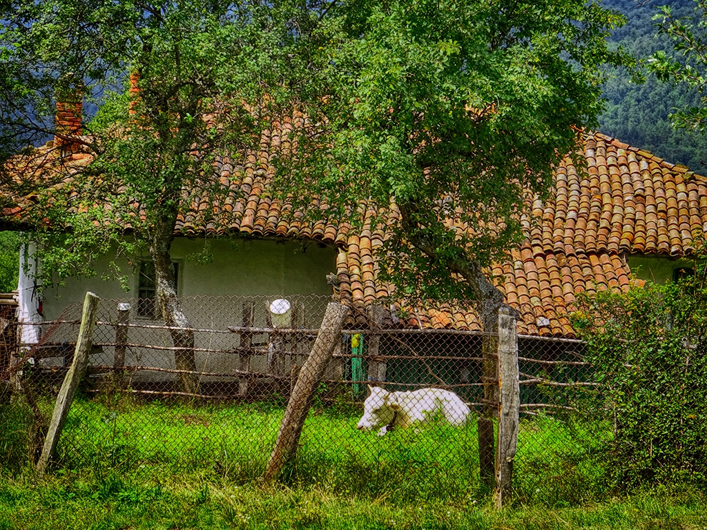
M 170 226 L 171 224 L 171 226 Z M 194 331 L 187 314 L 182 309 L 182 302 L 177 298 L 177 283 L 175 269 L 172 264 L 170 249 L 172 247 L 175 223 L 162 223 L 151 238 L 150 254 L 155 266 L 155 281 L 157 302 L 162 318 L 170 329 L 175 347 L 175 367 L 186 372 L 197 371 L 197 358 L 194 353 Z M 199 389 L 199 379 L 195 373 L 180 373 L 182 391 L 196 394 Z

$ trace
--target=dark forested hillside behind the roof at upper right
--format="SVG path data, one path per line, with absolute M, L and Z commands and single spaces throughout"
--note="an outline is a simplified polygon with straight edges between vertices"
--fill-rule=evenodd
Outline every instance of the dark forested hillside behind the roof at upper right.
M 655 36 L 652 20 L 658 13 L 655 6 L 670 4 L 678 16 L 692 16 L 695 6 L 692 0 L 604 0 L 602 3 L 628 18 L 628 23 L 614 32 L 612 40 L 644 58 L 658 49 L 672 50 L 667 37 Z M 600 118 L 600 131 L 705 175 L 707 136 L 674 130 L 667 119 L 675 107 L 697 105 L 699 95 L 687 93 L 682 86 L 660 83 L 653 74 L 646 76 L 642 85 L 630 83 L 626 72 L 612 74 L 615 77 L 604 86 L 607 110 Z

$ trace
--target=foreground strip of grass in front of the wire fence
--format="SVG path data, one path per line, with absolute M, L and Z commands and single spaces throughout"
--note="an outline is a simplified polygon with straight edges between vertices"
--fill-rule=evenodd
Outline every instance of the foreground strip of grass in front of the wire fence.
M 209 473 L 206 473 L 207 475 Z M 495 510 L 468 496 L 427 502 L 337 495 L 313 485 L 235 485 L 204 473 L 134 481 L 64 471 L 0 476 L 0 529 L 698 530 L 707 500 L 656 488 L 582 507 Z

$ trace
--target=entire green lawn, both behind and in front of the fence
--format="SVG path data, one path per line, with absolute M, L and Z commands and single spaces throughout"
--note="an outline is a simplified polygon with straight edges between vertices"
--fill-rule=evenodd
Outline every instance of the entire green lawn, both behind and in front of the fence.
M 40 400 L 49 413 L 52 402 Z M 687 486 L 614 495 L 605 425 L 539 415 L 520 425 L 513 505 L 479 483 L 475 422 L 385 437 L 358 406 L 315 402 L 296 461 L 259 481 L 282 403 L 169 404 L 79 396 L 47 476 L 27 465 L 28 415 L 0 415 L 3 529 L 705 529 Z

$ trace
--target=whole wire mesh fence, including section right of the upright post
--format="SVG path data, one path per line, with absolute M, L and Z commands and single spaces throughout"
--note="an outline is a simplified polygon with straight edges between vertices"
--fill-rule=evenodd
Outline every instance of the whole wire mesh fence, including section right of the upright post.
M 193 332 L 188 354 L 194 370 L 187 371 L 197 386 L 191 389 L 175 362 L 184 344 L 175 347 L 171 330 L 131 302 L 100 302 L 88 372 L 55 465 L 262 477 L 329 298 L 183 299 Z M 67 307 L 57 322 L 19 331 L 21 345 L 11 361 L 21 367 L 16 384 L 32 390 L 45 417 L 71 363 L 80 315 L 81 307 Z M 381 328 L 380 319 L 373 321 L 361 326 L 361 319 L 349 319 L 337 331 L 284 478 L 342 493 L 488 491 L 479 418 L 498 431 L 498 402 L 489 399 L 498 374 L 489 373 L 484 348 L 493 336 Z M 522 500 L 573 502 L 590 497 L 600 482 L 597 454 L 613 431 L 609 416 L 583 411 L 588 399 L 601 399 L 584 347 L 574 340 L 518 338 L 513 490 Z

